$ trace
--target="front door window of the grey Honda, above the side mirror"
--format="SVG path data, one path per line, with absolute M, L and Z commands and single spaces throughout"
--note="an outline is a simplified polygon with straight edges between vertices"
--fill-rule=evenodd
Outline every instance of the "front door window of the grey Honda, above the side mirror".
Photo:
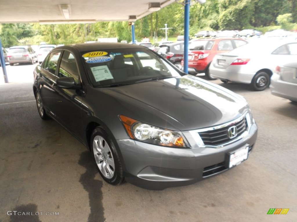
M 73 77 L 75 83 L 79 83 L 78 68 L 71 52 L 64 51 L 62 55 L 59 77 Z

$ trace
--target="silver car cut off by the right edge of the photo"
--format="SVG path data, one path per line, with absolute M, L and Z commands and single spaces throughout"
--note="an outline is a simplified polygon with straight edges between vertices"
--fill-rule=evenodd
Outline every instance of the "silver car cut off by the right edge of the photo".
M 297 61 L 276 67 L 271 77 L 271 94 L 297 102 Z

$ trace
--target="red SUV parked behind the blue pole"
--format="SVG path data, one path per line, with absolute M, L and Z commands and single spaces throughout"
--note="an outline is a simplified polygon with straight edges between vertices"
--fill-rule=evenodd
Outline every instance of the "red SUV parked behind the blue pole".
M 210 80 L 216 79 L 209 75 L 208 67 L 218 53 L 228 52 L 239 46 L 247 44 L 241 38 L 204 38 L 193 40 L 189 44 L 188 71 L 190 74 L 205 73 Z M 184 60 L 181 61 L 184 67 Z

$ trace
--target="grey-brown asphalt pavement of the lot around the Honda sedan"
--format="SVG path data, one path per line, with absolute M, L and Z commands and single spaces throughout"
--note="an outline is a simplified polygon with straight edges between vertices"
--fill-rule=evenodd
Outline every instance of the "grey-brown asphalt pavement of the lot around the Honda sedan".
M 39 117 L 35 65 L 6 66 L 11 83 L 0 78 L 0 221 L 296 221 L 297 104 L 211 81 L 250 104 L 259 131 L 248 160 L 190 186 L 111 186 L 77 139 Z M 270 208 L 289 211 L 267 215 Z

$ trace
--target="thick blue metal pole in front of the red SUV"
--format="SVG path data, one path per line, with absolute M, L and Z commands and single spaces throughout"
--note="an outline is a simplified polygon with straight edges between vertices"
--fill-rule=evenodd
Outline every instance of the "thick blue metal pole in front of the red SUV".
M 188 74 L 188 51 L 189 51 L 189 20 L 190 20 L 190 2 L 185 0 L 184 14 L 184 72 Z

